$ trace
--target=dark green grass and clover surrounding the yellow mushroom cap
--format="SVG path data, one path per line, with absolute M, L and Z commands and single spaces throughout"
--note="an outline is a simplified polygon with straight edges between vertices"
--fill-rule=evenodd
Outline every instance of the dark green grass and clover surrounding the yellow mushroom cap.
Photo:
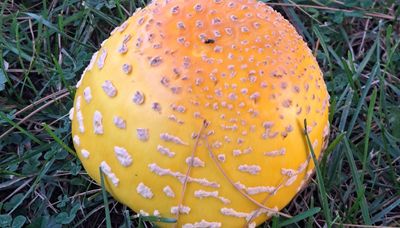
M 314 180 L 283 210 L 294 217 L 263 226 L 399 227 L 398 2 L 267 2 L 315 53 L 331 95 L 332 130 Z M 92 53 L 145 4 L 1 1 L 0 227 L 145 227 L 156 221 L 103 197 L 71 150 L 68 120 L 73 85 Z

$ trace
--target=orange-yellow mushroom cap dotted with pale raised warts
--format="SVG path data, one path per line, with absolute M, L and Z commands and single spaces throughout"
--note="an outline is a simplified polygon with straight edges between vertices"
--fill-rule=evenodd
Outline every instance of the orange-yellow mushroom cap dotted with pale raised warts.
M 255 226 L 312 174 L 329 95 L 290 23 L 253 0 L 155 0 L 77 85 L 73 142 L 88 174 L 134 211 L 183 227 Z

